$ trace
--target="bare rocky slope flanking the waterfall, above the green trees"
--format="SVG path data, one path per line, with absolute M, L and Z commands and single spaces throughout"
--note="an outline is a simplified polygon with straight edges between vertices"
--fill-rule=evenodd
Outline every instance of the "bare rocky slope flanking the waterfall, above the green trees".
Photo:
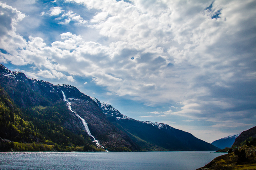
M 0 65 L 0 85 L 23 109 L 33 110 L 38 106 L 53 106 L 55 103 L 63 101 L 64 93 L 73 111 L 68 111 L 69 119 L 62 120 L 61 125 L 64 128 L 75 134 L 90 137 L 81 124 L 80 118 L 82 118 L 87 121 L 91 134 L 109 150 L 138 151 L 140 149 L 127 134 L 108 121 L 105 114 L 89 96 L 82 94 L 76 87 L 53 85 L 43 80 L 27 78 L 21 72 L 11 72 L 2 64 Z

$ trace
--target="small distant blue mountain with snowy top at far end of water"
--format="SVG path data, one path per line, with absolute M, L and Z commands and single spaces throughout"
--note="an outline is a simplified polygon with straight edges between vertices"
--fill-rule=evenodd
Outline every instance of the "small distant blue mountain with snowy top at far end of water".
M 219 140 L 213 141 L 211 144 L 220 148 L 220 149 L 224 149 L 226 147 L 231 148 L 231 146 L 233 145 L 233 143 L 235 142 L 236 137 L 238 137 L 240 134 L 237 135 L 230 135 L 224 138 L 221 138 Z

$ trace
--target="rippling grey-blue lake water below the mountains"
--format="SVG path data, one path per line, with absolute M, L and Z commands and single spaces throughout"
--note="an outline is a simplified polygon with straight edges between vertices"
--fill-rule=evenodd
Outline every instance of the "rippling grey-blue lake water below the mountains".
M 0 152 L 1 170 L 194 170 L 224 153 Z

